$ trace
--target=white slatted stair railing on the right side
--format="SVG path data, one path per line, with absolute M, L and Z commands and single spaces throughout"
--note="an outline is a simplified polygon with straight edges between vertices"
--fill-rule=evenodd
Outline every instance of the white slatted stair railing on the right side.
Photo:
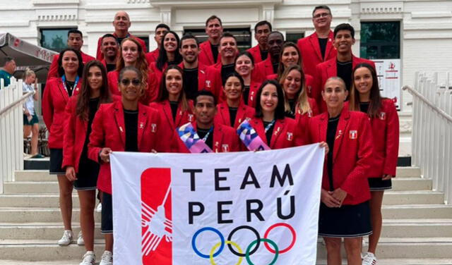
M 412 164 L 452 204 L 452 82 L 449 73 L 442 83 L 438 77 L 416 73 L 415 86 L 403 90 L 413 98 Z

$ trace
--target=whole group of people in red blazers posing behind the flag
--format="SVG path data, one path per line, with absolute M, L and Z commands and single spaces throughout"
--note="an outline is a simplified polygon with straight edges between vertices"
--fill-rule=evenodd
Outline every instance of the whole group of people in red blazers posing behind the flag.
M 316 6 L 316 32 L 297 44 L 258 22 L 258 45 L 242 52 L 217 16 L 206 20 L 208 40 L 201 44 L 160 24 L 158 48 L 146 53 L 121 11 L 114 33 L 99 39 L 97 60 L 81 51 L 82 33 L 69 31 L 69 48 L 55 56 L 42 99 L 65 229 L 59 244 L 72 242 L 75 187 L 78 242 L 87 251 L 81 265 L 94 264 L 98 189 L 100 264 L 112 264 L 111 152 L 255 152 L 320 142 L 326 160 L 319 235 L 328 264 L 341 264 L 341 238 L 348 264 L 376 264 L 383 190 L 396 175 L 398 114 L 380 95 L 374 63 L 352 55 L 353 27 L 331 31 L 331 20 L 328 6 Z

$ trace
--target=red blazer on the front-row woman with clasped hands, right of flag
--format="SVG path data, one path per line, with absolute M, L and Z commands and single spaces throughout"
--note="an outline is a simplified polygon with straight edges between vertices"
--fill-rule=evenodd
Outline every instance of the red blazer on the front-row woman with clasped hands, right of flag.
M 308 128 L 309 143 L 326 142 L 328 112 L 311 118 Z M 333 152 L 333 187 L 347 192 L 343 204 L 359 204 L 370 199 L 369 169 L 374 154 L 369 118 L 359 111 L 343 108 L 340 113 Z M 328 170 L 323 164 L 322 187 L 330 190 Z

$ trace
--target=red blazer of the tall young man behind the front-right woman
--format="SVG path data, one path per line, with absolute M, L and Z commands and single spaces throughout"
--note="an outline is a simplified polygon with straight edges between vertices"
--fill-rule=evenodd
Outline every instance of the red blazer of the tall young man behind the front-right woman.
M 359 63 L 369 63 L 375 69 L 375 63 L 373 61 L 358 58 L 352 55 L 352 68 L 355 68 Z M 314 87 L 312 87 L 311 97 L 316 99 L 317 105 L 319 106 L 320 112 L 326 111 L 325 101 L 322 99 L 321 91 L 325 85 L 326 80 L 333 76 L 338 75 L 338 68 L 336 65 L 336 58 L 332 58 L 324 63 L 320 63 L 316 66 L 316 75 L 314 81 Z M 350 73 L 351 75 L 351 73 Z

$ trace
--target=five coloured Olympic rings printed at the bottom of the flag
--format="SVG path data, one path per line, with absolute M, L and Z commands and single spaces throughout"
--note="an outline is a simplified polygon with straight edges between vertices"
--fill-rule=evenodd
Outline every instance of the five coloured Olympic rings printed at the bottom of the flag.
M 270 231 L 273 230 L 274 228 L 277 228 L 278 226 L 289 229 L 290 233 L 292 234 L 292 242 L 285 249 L 279 249 L 278 245 L 273 240 L 270 240 L 268 238 L 268 234 L 270 233 Z M 237 244 L 237 242 L 232 241 L 232 235 L 234 235 L 234 233 L 236 233 L 238 230 L 242 230 L 242 229 L 251 230 L 251 232 L 254 233 L 254 235 L 256 235 L 256 240 L 251 242 L 248 245 L 248 247 L 246 247 L 245 252 L 243 251 L 242 247 L 240 247 L 239 244 Z M 218 238 L 220 238 L 220 242 L 213 245 L 212 249 L 210 249 L 209 254 L 201 253 L 198 250 L 198 247 L 196 247 L 196 238 L 198 238 L 198 235 L 200 235 L 204 231 L 211 231 L 211 232 L 217 234 Z M 230 252 L 232 252 L 232 254 L 234 254 L 235 256 L 239 257 L 236 265 L 242 264 L 242 260 L 244 257 L 246 259 L 246 262 L 248 262 L 249 265 L 254 265 L 254 263 L 251 261 L 250 256 L 258 250 L 258 248 L 261 246 L 261 242 L 263 242 L 263 245 L 266 247 L 266 249 L 270 253 L 274 254 L 273 260 L 270 261 L 270 263 L 268 264 L 268 265 L 273 265 L 278 260 L 278 256 L 280 254 L 284 254 L 285 252 L 288 252 L 290 249 L 292 249 L 292 247 L 295 245 L 296 241 L 297 241 L 297 233 L 295 233 L 295 229 L 292 228 L 292 226 L 290 226 L 287 223 L 275 223 L 273 226 L 270 226 L 266 230 L 266 233 L 264 233 L 263 238 L 261 238 L 261 235 L 259 235 L 258 231 L 251 226 L 237 226 L 227 236 L 227 240 L 225 240 L 224 235 L 222 235 L 222 233 L 220 233 L 220 231 L 218 229 L 212 228 L 212 227 L 204 227 L 204 228 L 197 230 L 196 233 L 194 233 L 193 238 L 191 239 L 191 247 L 193 248 L 194 252 L 199 257 L 202 257 L 204 259 L 209 259 L 210 264 L 216 265 L 214 258 L 217 257 L 219 254 L 221 254 L 223 249 L 225 249 L 225 245 L 227 245 L 227 248 L 230 250 Z M 273 248 L 270 247 L 270 245 Z M 233 247 L 235 247 L 235 249 Z

